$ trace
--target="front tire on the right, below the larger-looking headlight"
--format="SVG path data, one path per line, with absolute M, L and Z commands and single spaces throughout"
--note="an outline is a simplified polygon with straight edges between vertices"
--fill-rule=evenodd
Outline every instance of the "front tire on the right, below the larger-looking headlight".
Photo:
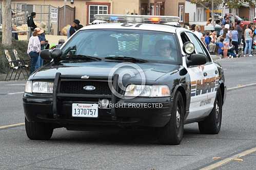
M 161 144 L 180 144 L 184 133 L 185 105 L 181 92 L 174 96 L 170 121 L 160 129 Z

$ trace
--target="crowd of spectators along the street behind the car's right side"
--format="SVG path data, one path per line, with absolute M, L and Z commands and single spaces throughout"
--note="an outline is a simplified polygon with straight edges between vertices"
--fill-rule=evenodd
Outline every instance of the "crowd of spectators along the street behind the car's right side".
M 206 26 L 211 25 L 209 18 Z M 188 25 L 184 28 L 190 29 L 198 38 L 200 38 L 211 54 L 217 53 L 223 58 L 240 57 L 239 47 L 243 43 L 243 55 L 252 56 L 251 51 L 256 44 L 256 26 L 242 25 L 240 20 L 230 21 L 230 16 L 227 14 L 222 20 L 215 21 L 214 30 L 201 32 L 201 27 L 198 25 Z

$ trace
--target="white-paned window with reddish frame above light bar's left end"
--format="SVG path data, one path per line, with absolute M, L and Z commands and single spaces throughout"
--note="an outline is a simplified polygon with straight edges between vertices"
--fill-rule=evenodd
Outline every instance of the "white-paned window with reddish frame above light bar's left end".
M 93 22 L 95 14 L 107 14 L 107 5 L 89 5 L 89 24 Z

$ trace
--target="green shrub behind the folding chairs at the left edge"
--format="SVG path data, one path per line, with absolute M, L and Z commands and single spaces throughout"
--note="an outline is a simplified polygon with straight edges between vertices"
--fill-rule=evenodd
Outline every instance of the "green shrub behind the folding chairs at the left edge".
M 13 39 L 12 46 L 4 47 L 2 45 L 2 37 L 0 36 L 0 44 L 0 73 L 7 73 L 9 68 L 9 63 L 5 57 L 4 50 L 9 51 L 9 54 L 11 55 L 12 59 L 15 59 L 15 57 L 12 54 L 13 49 L 17 50 L 19 57 L 21 57 L 22 59 L 29 59 L 29 56 L 27 54 L 27 41 L 18 41 Z

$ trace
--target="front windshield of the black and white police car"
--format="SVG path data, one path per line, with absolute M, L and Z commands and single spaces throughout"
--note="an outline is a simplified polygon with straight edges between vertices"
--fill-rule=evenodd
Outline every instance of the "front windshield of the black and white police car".
M 67 55 L 99 58 L 133 57 L 155 62 L 181 63 L 175 34 L 159 31 L 82 30 L 62 48 Z

